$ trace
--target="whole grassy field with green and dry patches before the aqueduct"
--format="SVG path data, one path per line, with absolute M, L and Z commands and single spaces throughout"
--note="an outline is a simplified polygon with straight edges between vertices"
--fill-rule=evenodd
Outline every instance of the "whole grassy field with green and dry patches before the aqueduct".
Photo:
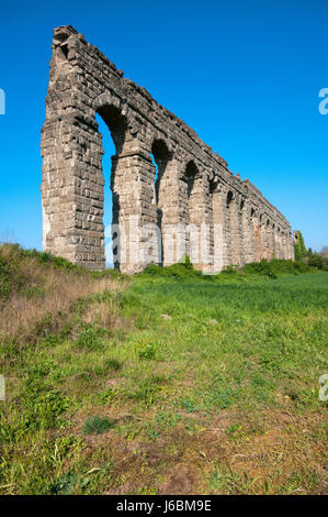
M 327 273 L 2 246 L 0 296 L 1 494 L 327 493 Z

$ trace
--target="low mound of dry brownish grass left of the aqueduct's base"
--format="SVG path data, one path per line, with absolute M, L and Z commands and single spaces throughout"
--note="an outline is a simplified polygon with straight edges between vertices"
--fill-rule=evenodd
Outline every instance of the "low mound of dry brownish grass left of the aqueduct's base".
M 108 271 L 92 274 L 61 257 L 19 245 L 0 246 L 0 340 L 15 346 L 65 331 L 88 296 L 120 284 Z

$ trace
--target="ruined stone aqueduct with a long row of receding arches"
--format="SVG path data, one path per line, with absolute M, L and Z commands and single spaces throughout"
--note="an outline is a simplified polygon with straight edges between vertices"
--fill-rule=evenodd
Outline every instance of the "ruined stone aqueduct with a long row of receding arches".
M 123 272 L 184 255 L 204 272 L 273 255 L 293 258 L 282 213 L 71 26 L 54 30 L 42 129 L 44 250 L 90 270 L 105 266 L 95 113 L 116 148 L 112 233 Z

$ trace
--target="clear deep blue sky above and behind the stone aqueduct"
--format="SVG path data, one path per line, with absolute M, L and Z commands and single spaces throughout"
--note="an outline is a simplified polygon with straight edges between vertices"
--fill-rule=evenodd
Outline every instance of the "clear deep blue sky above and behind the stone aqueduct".
M 328 245 L 327 0 L 2 2 L 0 240 L 42 245 L 39 130 L 53 28 L 64 24 L 249 178 L 308 246 Z M 106 134 L 108 189 L 112 148 Z M 105 210 L 109 221 L 109 194 Z

